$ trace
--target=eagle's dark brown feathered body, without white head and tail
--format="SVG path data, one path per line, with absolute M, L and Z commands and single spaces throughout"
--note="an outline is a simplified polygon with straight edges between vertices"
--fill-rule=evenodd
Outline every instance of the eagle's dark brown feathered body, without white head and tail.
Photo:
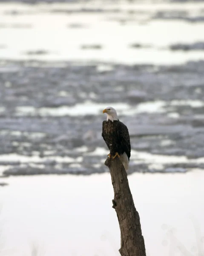
M 110 150 L 110 154 L 115 156 L 118 152 L 119 155 L 126 153 L 128 160 L 130 158 L 130 140 L 128 128 L 124 123 L 119 120 L 103 121 L 102 137 Z

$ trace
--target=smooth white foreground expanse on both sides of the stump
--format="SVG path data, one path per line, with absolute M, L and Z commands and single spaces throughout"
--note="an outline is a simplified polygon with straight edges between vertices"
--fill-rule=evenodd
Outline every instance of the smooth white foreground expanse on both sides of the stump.
M 203 179 L 198 170 L 129 176 L 147 256 L 203 255 Z M 2 255 L 29 256 L 36 247 L 39 256 L 119 256 L 109 174 L 3 180 Z

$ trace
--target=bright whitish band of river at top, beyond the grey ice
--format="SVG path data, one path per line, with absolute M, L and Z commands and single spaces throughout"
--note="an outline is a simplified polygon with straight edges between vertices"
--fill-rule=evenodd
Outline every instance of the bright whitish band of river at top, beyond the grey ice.
M 0 4 L 1 59 L 181 64 L 204 58 L 204 3 Z M 185 49 L 185 47 L 184 47 Z

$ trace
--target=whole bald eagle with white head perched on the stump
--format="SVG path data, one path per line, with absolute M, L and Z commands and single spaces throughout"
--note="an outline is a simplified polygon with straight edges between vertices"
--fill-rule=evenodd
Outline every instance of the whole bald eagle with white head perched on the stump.
M 109 157 L 118 156 L 127 171 L 131 151 L 128 128 L 119 121 L 114 108 L 107 107 L 103 113 L 107 114 L 107 119 L 103 121 L 102 137 L 109 148 Z

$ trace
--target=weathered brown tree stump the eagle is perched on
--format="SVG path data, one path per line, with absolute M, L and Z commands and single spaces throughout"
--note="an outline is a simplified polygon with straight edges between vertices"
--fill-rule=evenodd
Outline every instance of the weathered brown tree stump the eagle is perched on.
M 127 174 L 120 159 L 106 159 L 114 189 L 113 208 L 121 230 L 121 256 L 146 256 L 140 217 L 135 209 Z

